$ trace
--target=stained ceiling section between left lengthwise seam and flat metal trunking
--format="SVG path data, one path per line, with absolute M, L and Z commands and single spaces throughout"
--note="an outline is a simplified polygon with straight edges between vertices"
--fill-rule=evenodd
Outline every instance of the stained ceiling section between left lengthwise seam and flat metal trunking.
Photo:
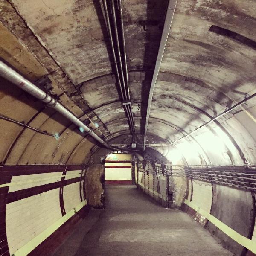
M 12 6 L 69 80 L 66 91 L 79 107 L 106 123 L 107 136 L 128 128 L 113 75 L 113 55 L 102 1 L 13 0 Z M 145 116 L 168 1 L 123 1 L 124 30 L 134 116 Z M 7 5 L 8 3 L 6 3 Z M 15 17 L 12 17 L 14 19 Z M 33 47 L 26 45 L 33 51 Z M 42 63 L 42 57 L 38 56 Z M 54 77 L 55 74 L 53 73 Z M 74 91 L 73 87 L 76 88 Z M 142 97 L 143 94 L 143 97 Z M 77 97 L 78 98 L 78 97 Z M 116 124 L 114 121 L 116 120 Z M 140 134 L 141 121 L 135 127 Z M 102 124 L 103 126 L 103 124 Z

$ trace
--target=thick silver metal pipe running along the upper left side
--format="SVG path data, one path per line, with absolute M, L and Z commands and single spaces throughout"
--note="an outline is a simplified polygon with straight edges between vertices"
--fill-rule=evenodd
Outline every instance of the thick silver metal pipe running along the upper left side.
M 113 149 L 110 145 L 108 145 L 104 140 L 102 140 L 97 134 L 95 134 L 87 125 L 81 122 L 73 113 L 71 113 L 67 108 L 61 105 L 58 101 L 56 101 L 52 96 L 45 93 L 43 90 L 32 84 L 30 81 L 25 79 L 11 67 L 8 67 L 5 63 L 0 61 L 0 76 L 5 78 L 6 80 L 16 84 L 17 87 L 31 94 L 35 98 L 41 100 L 45 104 L 51 106 L 56 111 L 61 113 L 67 119 L 69 119 L 73 124 L 77 125 L 79 128 L 83 129 L 87 132 L 91 137 L 97 140 L 99 143 L 104 145 L 106 148 Z

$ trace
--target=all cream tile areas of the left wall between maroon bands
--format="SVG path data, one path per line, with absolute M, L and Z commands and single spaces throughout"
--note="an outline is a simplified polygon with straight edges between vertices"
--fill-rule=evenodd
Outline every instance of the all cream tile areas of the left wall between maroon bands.
M 81 172 L 67 171 L 65 180 L 81 177 Z M 61 181 L 62 174 L 49 172 L 13 176 L 9 193 Z M 63 188 L 66 213 L 81 204 L 79 186 L 77 182 Z M 62 217 L 59 193 L 60 189 L 56 188 L 6 205 L 6 236 L 11 255 Z

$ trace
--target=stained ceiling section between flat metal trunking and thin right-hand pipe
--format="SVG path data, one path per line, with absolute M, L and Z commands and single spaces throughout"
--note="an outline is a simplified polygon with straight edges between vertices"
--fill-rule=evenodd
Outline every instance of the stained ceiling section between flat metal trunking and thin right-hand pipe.
M 256 43 L 238 40 L 241 35 L 256 41 L 255 10 L 252 1 L 177 1 L 150 117 L 189 132 L 255 93 Z

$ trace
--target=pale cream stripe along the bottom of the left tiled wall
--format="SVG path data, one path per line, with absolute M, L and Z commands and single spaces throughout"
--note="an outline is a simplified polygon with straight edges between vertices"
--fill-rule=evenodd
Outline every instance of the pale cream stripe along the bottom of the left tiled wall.
M 66 215 L 62 216 L 58 221 L 56 221 L 51 226 L 47 227 L 46 230 L 44 230 L 42 233 L 40 233 L 38 236 L 30 240 L 27 244 L 23 245 L 19 250 L 17 250 L 13 255 L 14 256 L 26 256 L 28 255 L 32 250 L 35 249 L 41 242 L 43 242 L 47 237 L 49 237 L 55 230 L 57 230 L 59 227 L 61 227 L 62 224 L 64 224 L 69 218 L 71 218 L 73 215 L 75 215 L 76 212 L 78 212 L 82 207 L 84 207 L 87 204 L 87 201 L 81 202 L 76 208 L 72 209 L 70 212 L 68 212 Z M 75 212 L 76 211 L 76 212 Z

